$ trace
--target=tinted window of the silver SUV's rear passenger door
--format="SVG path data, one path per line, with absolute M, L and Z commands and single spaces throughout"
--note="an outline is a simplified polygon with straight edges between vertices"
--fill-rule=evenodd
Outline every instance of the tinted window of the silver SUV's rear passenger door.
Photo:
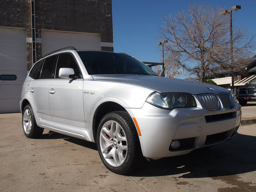
M 44 60 L 40 79 L 52 79 L 54 78 L 54 71 L 58 55 L 50 56 Z

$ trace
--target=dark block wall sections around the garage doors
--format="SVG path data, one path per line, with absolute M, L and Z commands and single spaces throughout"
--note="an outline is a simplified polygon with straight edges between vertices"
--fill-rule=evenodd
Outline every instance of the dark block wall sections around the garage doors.
M 0 26 L 26 28 L 31 38 L 31 1 L 1 0 Z M 100 34 L 101 42 L 113 43 L 112 0 L 35 0 L 37 59 L 42 56 L 41 30 Z M 113 51 L 102 46 L 101 50 Z M 28 70 L 32 66 L 32 43 L 27 42 Z

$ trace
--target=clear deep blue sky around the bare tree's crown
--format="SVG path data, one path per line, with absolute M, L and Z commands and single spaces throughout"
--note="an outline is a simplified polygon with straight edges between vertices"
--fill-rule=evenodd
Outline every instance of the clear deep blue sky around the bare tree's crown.
M 232 12 L 233 26 L 244 25 L 256 34 L 256 0 L 112 0 L 114 52 L 124 52 L 144 62 L 162 62 L 162 46 L 158 46 L 157 38 L 164 14 L 186 10 L 193 2 L 226 9 L 240 5 L 241 10 Z

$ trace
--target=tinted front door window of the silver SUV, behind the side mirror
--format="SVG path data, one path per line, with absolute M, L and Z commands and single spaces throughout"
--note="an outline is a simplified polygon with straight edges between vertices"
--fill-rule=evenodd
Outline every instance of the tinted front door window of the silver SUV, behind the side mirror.
M 76 64 L 74 57 L 69 53 L 59 54 L 58 63 L 56 67 L 56 74 L 55 74 L 56 79 L 59 78 L 60 68 L 72 68 L 74 69 L 75 74 L 81 75 L 81 72 L 79 70 L 78 65 Z

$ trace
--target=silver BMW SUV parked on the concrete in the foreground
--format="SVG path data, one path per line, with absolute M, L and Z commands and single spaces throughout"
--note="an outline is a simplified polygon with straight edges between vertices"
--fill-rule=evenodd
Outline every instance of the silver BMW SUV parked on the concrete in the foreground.
M 219 86 L 158 76 L 126 54 L 64 48 L 34 64 L 20 100 L 28 138 L 44 129 L 96 142 L 106 168 L 187 154 L 235 136 L 241 107 Z

